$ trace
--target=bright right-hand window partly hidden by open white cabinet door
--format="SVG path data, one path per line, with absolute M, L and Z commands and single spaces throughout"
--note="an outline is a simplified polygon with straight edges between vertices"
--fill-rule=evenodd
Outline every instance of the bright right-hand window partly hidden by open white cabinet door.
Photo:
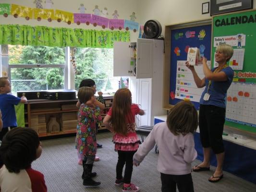
M 76 90 L 83 79 L 93 79 L 97 90 L 103 93 L 112 93 L 120 87 L 128 87 L 128 77 L 113 77 L 113 48 L 77 48 L 75 60 Z

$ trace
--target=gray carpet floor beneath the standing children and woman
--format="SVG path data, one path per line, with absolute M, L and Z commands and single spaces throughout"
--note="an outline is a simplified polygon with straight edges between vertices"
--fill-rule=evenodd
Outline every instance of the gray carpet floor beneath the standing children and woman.
M 46 180 L 48 192 L 122 192 L 122 185 L 115 186 L 115 167 L 117 153 L 111 142 L 110 133 L 99 133 L 98 149 L 100 161 L 95 162 L 93 171 L 98 173 L 96 181 L 101 181 L 97 188 L 86 188 L 82 184 L 82 166 L 77 164 L 77 152 L 74 148 L 74 137 L 42 141 L 42 156 L 33 162 L 32 167 L 41 171 Z M 152 150 L 139 167 L 134 167 L 132 182 L 140 187 L 141 192 L 160 192 L 160 174 L 157 171 L 158 154 Z M 197 165 L 198 160 L 193 163 Z M 195 192 L 256 192 L 256 185 L 224 172 L 224 178 L 218 183 L 208 182 L 211 171 L 192 173 Z

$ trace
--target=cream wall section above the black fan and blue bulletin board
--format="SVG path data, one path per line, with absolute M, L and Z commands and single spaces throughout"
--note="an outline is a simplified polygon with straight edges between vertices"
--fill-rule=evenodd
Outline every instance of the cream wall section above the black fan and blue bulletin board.
M 210 0 L 140 0 L 140 23 L 156 19 L 162 25 L 164 35 L 165 25 L 187 23 L 196 20 L 211 19 L 210 13 L 202 14 L 202 3 Z M 256 0 L 253 0 L 254 9 Z

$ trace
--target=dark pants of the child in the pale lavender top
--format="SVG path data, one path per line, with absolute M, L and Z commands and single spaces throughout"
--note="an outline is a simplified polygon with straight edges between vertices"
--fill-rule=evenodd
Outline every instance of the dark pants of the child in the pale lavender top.
M 161 173 L 162 192 L 194 192 L 191 173 L 186 175 L 168 175 Z

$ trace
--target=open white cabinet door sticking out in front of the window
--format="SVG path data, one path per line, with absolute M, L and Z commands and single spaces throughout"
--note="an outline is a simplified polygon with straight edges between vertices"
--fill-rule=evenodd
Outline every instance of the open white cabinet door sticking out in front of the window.
M 114 77 L 134 76 L 135 59 L 132 60 L 132 54 L 130 42 L 114 42 Z

